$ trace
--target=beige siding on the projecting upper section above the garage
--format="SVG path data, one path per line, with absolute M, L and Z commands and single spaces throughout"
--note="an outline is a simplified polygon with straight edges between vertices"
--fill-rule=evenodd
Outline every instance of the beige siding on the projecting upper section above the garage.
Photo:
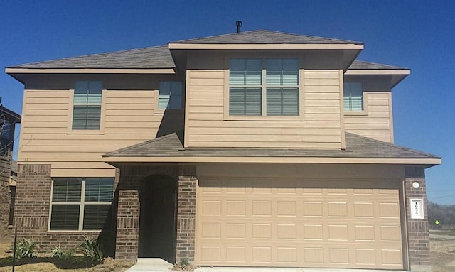
M 303 116 L 228 116 L 228 75 L 222 54 L 190 55 L 186 80 L 186 147 L 340 148 L 339 70 L 303 70 Z M 200 69 L 203 68 L 204 69 Z M 241 116 L 245 117 L 245 116 Z M 292 116 L 295 117 L 295 116 Z

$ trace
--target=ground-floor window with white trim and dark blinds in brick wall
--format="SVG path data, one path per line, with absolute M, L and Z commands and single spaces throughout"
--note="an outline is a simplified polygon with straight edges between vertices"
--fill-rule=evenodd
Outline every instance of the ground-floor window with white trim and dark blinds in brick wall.
M 50 230 L 100 230 L 114 197 L 114 178 L 53 178 Z

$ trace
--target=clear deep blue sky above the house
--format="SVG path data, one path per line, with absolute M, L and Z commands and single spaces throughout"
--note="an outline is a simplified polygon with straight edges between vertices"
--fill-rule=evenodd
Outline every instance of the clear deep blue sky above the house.
M 21 112 L 6 66 L 233 33 L 237 20 L 363 41 L 358 60 L 410 67 L 392 92 L 395 143 L 443 158 L 427 169 L 428 197 L 455 204 L 455 1 L 0 0 L 0 96 Z

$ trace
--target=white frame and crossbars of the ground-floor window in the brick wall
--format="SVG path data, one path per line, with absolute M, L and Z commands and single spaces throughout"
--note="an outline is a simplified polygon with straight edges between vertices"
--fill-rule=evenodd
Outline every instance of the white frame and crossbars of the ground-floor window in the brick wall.
M 54 190 L 54 179 L 50 183 L 50 208 L 49 208 L 49 221 L 48 221 L 48 232 L 100 232 L 101 229 L 84 229 L 84 212 L 85 205 L 112 205 L 110 202 L 85 202 L 85 181 L 86 178 L 82 178 L 80 185 L 80 201 L 77 202 L 61 202 L 53 201 L 53 190 Z M 112 190 L 112 199 L 114 199 L 114 188 Z M 79 205 L 79 224 L 77 229 L 50 229 L 50 221 L 52 219 L 52 207 L 53 205 Z

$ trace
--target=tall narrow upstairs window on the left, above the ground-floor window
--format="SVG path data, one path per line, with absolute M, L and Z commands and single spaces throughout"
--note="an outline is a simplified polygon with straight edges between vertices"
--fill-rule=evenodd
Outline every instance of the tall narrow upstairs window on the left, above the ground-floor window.
M 99 130 L 102 82 L 76 81 L 73 100 L 73 129 Z

